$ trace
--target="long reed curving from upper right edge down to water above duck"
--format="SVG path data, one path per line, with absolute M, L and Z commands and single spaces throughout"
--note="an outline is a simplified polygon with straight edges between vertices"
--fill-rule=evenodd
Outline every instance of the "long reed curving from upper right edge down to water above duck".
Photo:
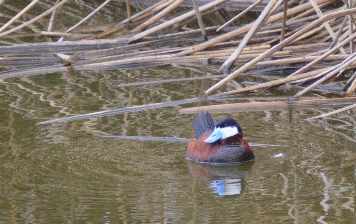
M 241 74 L 242 72 L 247 71 L 249 68 L 251 68 L 257 62 L 259 62 L 262 59 L 270 56 L 272 53 L 279 51 L 281 48 L 283 48 L 284 46 L 287 46 L 289 43 L 291 43 L 295 39 L 297 39 L 302 33 L 308 32 L 309 30 L 311 30 L 312 28 L 318 26 L 319 24 L 323 23 L 324 21 L 328 21 L 330 19 L 333 19 L 334 17 L 340 17 L 340 16 L 349 15 L 349 14 L 354 14 L 355 12 L 356 12 L 356 9 L 347 9 L 347 10 L 344 10 L 344 11 L 341 11 L 341 12 L 334 12 L 334 13 L 327 14 L 327 15 L 323 16 L 322 18 L 313 21 L 308 26 L 304 27 L 302 30 L 299 30 L 298 32 L 294 33 L 292 36 L 284 39 L 279 44 L 273 46 L 270 50 L 266 51 L 265 53 L 261 54 L 260 56 L 256 57 L 255 59 L 251 60 L 250 62 L 246 63 L 244 66 L 240 67 L 235 72 L 231 73 L 228 77 L 226 77 L 225 79 L 221 80 L 219 83 L 215 84 L 213 87 L 210 87 L 208 90 L 206 90 L 205 93 L 207 95 L 210 95 L 216 89 L 220 88 L 222 85 L 224 85 L 227 82 L 231 81 L 237 75 Z

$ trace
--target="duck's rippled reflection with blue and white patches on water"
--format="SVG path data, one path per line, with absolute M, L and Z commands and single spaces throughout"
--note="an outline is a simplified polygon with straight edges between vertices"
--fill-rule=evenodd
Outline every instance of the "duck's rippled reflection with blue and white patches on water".
M 238 164 L 216 165 L 188 160 L 188 167 L 194 177 L 206 177 L 208 187 L 214 193 L 223 195 L 242 194 L 245 188 L 246 171 L 251 170 L 254 161 Z

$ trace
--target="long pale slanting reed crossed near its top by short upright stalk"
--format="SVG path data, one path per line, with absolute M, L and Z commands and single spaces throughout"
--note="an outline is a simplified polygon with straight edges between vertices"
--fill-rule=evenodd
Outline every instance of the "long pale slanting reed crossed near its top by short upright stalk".
M 227 0 L 215 0 L 215 1 L 213 1 L 213 2 L 210 2 L 210 3 L 206 4 L 206 5 L 200 6 L 200 7 L 199 7 L 199 10 L 200 10 L 200 11 L 206 11 L 206 10 L 208 10 L 208 9 L 210 9 L 210 8 L 212 8 L 212 7 L 215 7 L 216 5 L 219 5 L 219 4 L 221 4 L 221 3 L 225 2 L 225 1 L 227 1 Z M 176 24 L 176 23 L 178 23 L 178 22 L 180 22 L 180 21 L 183 21 L 183 20 L 185 20 L 185 19 L 187 19 L 187 18 L 189 18 L 189 17 L 192 17 L 192 16 L 194 16 L 194 15 L 195 15 L 195 10 L 192 10 L 192 11 L 190 11 L 190 12 L 187 12 L 187 13 L 185 13 L 185 14 L 183 14 L 183 15 L 180 15 L 180 16 L 174 18 L 174 19 L 171 19 L 171 20 L 169 20 L 169 21 L 167 21 L 167 22 L 164 22 L 164 23 L 162 23 L 162 24 L 159 24 L 159 25 L 157 25 L 157 26 L 155 26 L 155 27 L 152 27 L 152 28 L 150 28 L 150 29 L 148 29 L 148 30 L 146 30 L 146 31 L 141 32 L 141 33 L 138 33 L 138 34 L 136 34 L 136 35 L 130 37 L 127 42 L 128 42 L 128 43 L 131 43 L 131 42 L 133 42 L 133 41 L 140 40 L 140 39 L 143 38 L 143 37 L 146 37 L 146 36 L 148 36 L 148 35 L 151 35 L 151 34 L 153 34 L 153 33 L 156 33 L 156 32 L 158 32 L 158 31 L 160 31 L 160 30 L 162 30 L 162 29 L 164 29 L 164 28 L 167 28 L 167 27 L 169 27 L 169 26 L 172 26 L 172 25 L 174 25 L 174 24 Z

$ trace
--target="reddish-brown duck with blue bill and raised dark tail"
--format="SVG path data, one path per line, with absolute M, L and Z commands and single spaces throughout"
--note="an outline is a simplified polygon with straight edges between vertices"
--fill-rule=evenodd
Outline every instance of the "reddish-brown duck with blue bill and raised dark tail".
M 213 122 L 203 110 L 198 120 L 193 118 L 194 136 L 188 144 L 188 159 L 203 163 L 241 163 L 255 159 L 255 154 L 243 139 L 236 120 L 230 117 Z

